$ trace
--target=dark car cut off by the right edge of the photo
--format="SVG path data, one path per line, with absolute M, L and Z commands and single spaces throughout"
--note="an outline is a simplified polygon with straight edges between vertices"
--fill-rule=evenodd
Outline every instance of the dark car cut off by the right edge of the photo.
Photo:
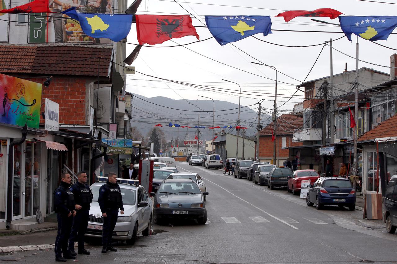
M 385 192 L 385 212 L 383 221 L 387 233 L 393 234 L 397 228 L 397 175 L 391 176 Z

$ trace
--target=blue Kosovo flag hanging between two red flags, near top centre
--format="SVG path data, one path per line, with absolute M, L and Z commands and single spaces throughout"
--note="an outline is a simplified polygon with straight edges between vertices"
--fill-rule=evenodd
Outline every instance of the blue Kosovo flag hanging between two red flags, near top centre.
M 212 36 L 221 45 L 235 42 L 258 33 L 263 33 L 264 36 L 272 33 L 272 21 L 268 15 L 206 15 L 205 23 Z

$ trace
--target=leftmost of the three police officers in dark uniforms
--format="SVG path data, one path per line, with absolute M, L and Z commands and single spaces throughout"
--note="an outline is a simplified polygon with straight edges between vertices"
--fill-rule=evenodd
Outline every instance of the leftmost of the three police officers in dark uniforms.
M 70 191 L 71 177 L 66 172 L 61 174 L 61 184 L 54 192 L 55 212 L 58 219 L 58 235 L 55 239 L 55 260 L 66 262 L 66 259 L 74 259 L 67 251 L 67 241 L 76 215 L 73 193 Z M 62 253 L 64 253 L 62 257 Z

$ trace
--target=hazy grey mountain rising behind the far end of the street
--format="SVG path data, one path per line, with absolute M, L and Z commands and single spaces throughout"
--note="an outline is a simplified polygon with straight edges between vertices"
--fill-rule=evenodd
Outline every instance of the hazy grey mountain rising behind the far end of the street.
M 235 103 L 227 101 L 214 100 L 215 102 L 215 122 L 214 126 L 235 126 L 238 118 L 238 107 Z M 212 100 L 184 100 L 172 99 L 162 96 L 147 98 L 139 94 L 134 94 L 132 100 L 132 119 L 131 126 L 135 126 L 139 131 L 146 136 L 155 124 L 162 124 L 160 129 L 166 135 L 167 140 L 172 138 L 187 138 L 193 140 L 197 133 L 197 128 L 175 128 L 169 127 L 168 124 L 177 123 L 181 126 L 197 126 L 198 125 L 198 108 L 200 108 L 200 126 L 206 128 L 200 129 L 200 139 L 212 139 L 212 110 L 214 104 Z M 164 106 L 164 107 L 163 107 Z M 168 108 L 167 108 L 168 107 Z M 231 110 L 228 110 L 231 109 Z M 190 111 L 188 111 L 190 110 Z M 224 111 L 221 111 L 224 110 Z M 258 105 L 250 107 L 241 107 L 240 109 L 240 125 L 246 126 L 247 136 L 256 135 Z M 270 122 L 270 115 L 262 115 L 261 124 L 264 126 Z M 214 132 L 219 132 L 221 129 L 215 129 Z M 225 132 L 235 133 L 235 129 L 225 129 Z

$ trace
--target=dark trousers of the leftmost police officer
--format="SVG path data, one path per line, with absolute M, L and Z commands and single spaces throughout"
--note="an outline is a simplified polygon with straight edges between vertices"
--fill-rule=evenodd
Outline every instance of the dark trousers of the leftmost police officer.
M 72 228 L 73 216 L 58 212 L 56 218 L 58 219 L 58 235 L 55 239 L 55 256 L 60 257 L 62 253 L 67 254 L 67 241 L 69 240 L 70 230 Z

